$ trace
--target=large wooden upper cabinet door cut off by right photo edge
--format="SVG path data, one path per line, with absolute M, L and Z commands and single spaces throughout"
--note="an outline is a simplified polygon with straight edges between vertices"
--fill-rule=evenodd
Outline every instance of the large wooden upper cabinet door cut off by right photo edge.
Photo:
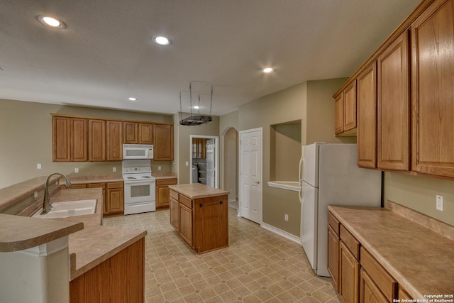
M 454 1 L 437 0 L 411 26 L 412 170 L 454 177 Z

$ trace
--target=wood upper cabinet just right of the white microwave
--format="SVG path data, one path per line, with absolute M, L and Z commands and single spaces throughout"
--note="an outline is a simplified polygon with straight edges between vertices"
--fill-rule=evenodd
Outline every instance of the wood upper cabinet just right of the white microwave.
M 153 124 L 153 149 L 155 161 L 173 160 L 173 125 Z

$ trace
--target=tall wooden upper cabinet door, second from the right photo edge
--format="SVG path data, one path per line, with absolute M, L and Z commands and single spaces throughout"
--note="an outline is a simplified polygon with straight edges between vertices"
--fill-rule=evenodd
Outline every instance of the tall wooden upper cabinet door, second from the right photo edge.
M 378 162 L 385 170 L 409 170 L 409 50 L 404 32 L 377 58 Z

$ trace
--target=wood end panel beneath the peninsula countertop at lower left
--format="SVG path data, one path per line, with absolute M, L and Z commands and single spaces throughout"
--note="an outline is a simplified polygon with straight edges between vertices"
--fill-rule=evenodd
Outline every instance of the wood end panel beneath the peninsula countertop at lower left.
M 145 241 L 136 241 L 70 282 L 70 303 L 145 302 Z

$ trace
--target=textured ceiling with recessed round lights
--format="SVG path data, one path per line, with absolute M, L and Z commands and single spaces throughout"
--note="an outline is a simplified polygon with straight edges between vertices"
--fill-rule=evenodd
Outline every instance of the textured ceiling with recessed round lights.
M 201 114 L 211 84 L 212 114 L 227 114 L 294 84 L 349 77 L 418 3 L 0 0 L 0 98 L 175 114 L 179 92 L 189 111 L 192 82 Z M 67 28 L 41 25 L 40 14 Z

